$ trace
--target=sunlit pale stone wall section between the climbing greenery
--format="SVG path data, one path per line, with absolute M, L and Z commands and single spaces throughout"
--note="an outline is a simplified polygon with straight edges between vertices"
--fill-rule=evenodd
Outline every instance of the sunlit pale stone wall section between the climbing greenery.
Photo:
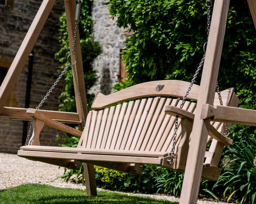
M 111 87 L 118 83 L 120 50 L 125 49 L 124 41 L 130 36 L 128 29 L 118 28 L 116 19 L 109 14 L 106 0 L 94 0 L 92 5 L 92 38 L 100 42 L 102 54 L 94 62 L 97 84 L 90 93 L 110 94 Z

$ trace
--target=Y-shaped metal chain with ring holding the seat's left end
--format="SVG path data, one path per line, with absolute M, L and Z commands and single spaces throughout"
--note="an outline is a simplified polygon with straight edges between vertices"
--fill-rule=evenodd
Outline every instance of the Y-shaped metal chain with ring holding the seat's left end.
M 78 3 L 80 3 L 80 1 L 78 1 Z M 76 11 L 77 12 L 77 11 Z M 77 79 L 77 75 L 76 75 L 76 71 L 75 71 L 75 64 L 76 64 L 76 55 L 74 54 L 75 52 L 75 45 L 76 45 L 76 35 L 77 35 L 77 28 L 78 28 L 78 22 L 79 20 L 77 20 L 75 22 L 75 29 L 74 29 L 74 38 L 73 38 L 73 46 L 72 46 L 72 50 L 71 53 L 68 55 L 67 57 L 67 64 L 65 66 L 65 68 L 63 69 L 63 71 L 60 73 L 59 77 L 57 78 L 57 80 L 54 82 L 54 84 L 52 85 L 52 87 L 49 89 L 49 91 L 47 92 L 47 94 L 43 97 L 43 100 L 39 103 L 39 105 L 37 106 L 36 110 L 39 110 L 39 108 L 43 105 L 43 103 L 46 101 L 46 99 L 48 98 L 48 96 L 52 93 L 53 89 L 55 88 L 55 86 L 57 85 L 57 83 L 59 82 L 59 80 L 63 77 L 63 75 L 65 74 L 66 70 L 69 68 L 69 66 L 71 65 L 72 69 L 73 69 L 73 73 L 74 73 L 74 78 L 75 78 L 75 84 L 76 84 L 76 90 L 78 92 L 78 98 L 79 98 L 79 103 L 80 103 L 80 108 L 81 108 L 81 114 L 82 114 L 82 125 L 83 128 L 85 126 L 85 116 L 84 116 L 84 111 L 83 111 L 83 107 L 82 107 L 82 101 L 81 101 L 81 96 L 80 96 L 80 91 L 79 91 L 79 85 L 78 85 L 78 79 Z M 71 63 L 71 56 L 75 57 L 75 62 L 72 64 Z M 70 59 L 70 62 L 69 62 Z M 33 127 L 33 123 L 34 123 L 34 118 L 31 119 L 31 123 L 30 123 L 30 128 L 28 129 L 28 134 L 27 134 L 27 138 L 26 138 L 26 142 L 25 145 L 28 145 L 28 141 L 30 139 L 31 136 L 31 131 L 32 131 L 32 127 Z

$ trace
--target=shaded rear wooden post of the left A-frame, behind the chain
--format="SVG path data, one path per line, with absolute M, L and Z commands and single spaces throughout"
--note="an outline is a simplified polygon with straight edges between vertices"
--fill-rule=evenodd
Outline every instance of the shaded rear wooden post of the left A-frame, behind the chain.
M 68 26 L 69 46 L 70 46 L 70 52 L 71 52 L 72 46 L 73 46 L 73 39 L 74 39 L 76 1 L 75 0 L 64 0 L 64 2 L 65 2 L 65 11 L 66 11 L 66 21 L 67 21 L 67 26 Z M 76 70 L 76 74 L 77 74 L 77 80 L 78 80 L 78 85 L 79 85 L 81 101 L 82 101 L 82 107 L 83 107 L 85 118 L 86 118 L 88 109 L 87 109 L 87 101 L 86 101 L 86 90 L 85 90 L 85 83 L 84 83 L 84 70 L 83 70 L 83 65 L 82 65 L 82 54 L 81 54 L 81 46 L 80 46 L 79 29 L 78 29 L 77 36 L 76 36 L 75 55 L 77 58 L 77 62 L 75 64 L 75 70 Z M 71 56 L 71 62 L 72 63 L 75 62 L 75 58 L 73 56 Z M 77 93 L 76 86 L 75 86 L 74 72 L 73 72 L 73 81 L 74 81 L 74 87 L 75 87 L 76 110 L 79 114 L 80 121 L 82 121 L 80 102 L 79 102 L 78 93 Z M 83 129 L 82 125 L 79 126 L 79 129 L 82 131 L 82 129 Z M 84 174 L 85 174 L 85 185 L 86 185 L 87 195 L 97 196 L 94 165 L 84 163 Z

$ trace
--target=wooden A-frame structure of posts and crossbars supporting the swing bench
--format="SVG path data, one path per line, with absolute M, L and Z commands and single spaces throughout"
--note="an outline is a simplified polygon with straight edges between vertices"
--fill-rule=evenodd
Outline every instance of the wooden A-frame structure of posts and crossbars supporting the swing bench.
M 75 25 L 75 0 L 64 0 L 66 21 L 68 26 L 68 36 L 70 42 L 70 51 L 72 49 L 73 33 Z M 205 149 L 207 145 L 207 135 L 209 132 L 210 121 L 230 122 L 244 125 L 256 126 L 256 111 L 249 109 L 241 109 L 234 107 L 214 106 L 214 93 L 215 84 L 217 82 L 220 57 L 222 53 L 226 20 L 228 16 L 230 0 L 215 0 L 213 7 L 213 15 L 210 26 L 209 40 L 207 45 L 206 57 L 203 65 L 202 78 L 200 83 L 200 91 L 197 101 L 197 109 L 194 114 L 193 128 L 191 132 L 191 145 L 188 150 L 187 164 L 185 168 L 185 176 L 181 191 L 181 204 L 195 204 L 199 184 L 202 175 L 203 159 Z M 247 0 L 254 25 L 256 27 L 256 0 Z M 31 120 L 28 116 L 27 109 L 25 108 L 12 108 L 4 107 L 7 98 L 9 97 L 12 87 L 18 79 L 18 76 L 25 65 L 41 30 L 46 22 L 49 13 L 51 12 L 55 0 L 43 0 L 30 29 L 28 30 L 25 39 L 23 40 L 20 49 L 18 50 L 14 61 L 0 87 L 0 118 L 3 119 L 16 119 L 16 120 Z M 80 95 L 82 100 L 82 106 L 84 107 L 85 117 L 88 113 L 86 90 L 84 84 L 84 72 L 82 67 L 82 55 L 80 48 L 79 32 L 77 34 L 77 42 L 75 47 L 75 55 L 77 56 L 77 62 L 75 64 L 75 70 L 78 76 L 78 84 L 80 87 Z M 71 62 L 75 59 L 71 56 Z M 76 89 L 76 87 L 75 87 Z M 39 110 L 39 113 L 47 116 L 50 119 L 59 121 L 61 123 L 74 123 L 79 124 L 79 130 L 82 131 L 82 115 L 79 108 L 79 100 L 77 91 L 75 90 L 75 99 L 77 113 L 67 113 L 58 111 L 45 111 Z M 175 112 L 175 110 L 172 110 Z M 176 110 L 177 111 L 177 110 Z M 183 114 L 183 113 L 179 113 Z M 189 117 L 186 116 L 185 117 Z M 68 118 L 68 120 L 67 120 Z M 42 159 L 43 160 L 43 159 Z M 60 160 L 54 160 L 54 164 L 60 162 L 62 166 L 76 167 L 76 161 L 63 164 Z M 48 161 L 48 163 L 50 163 Z M 95 164 L 95 163 L 94 163 Z M 107 166 L 107 163 L 105 164 Z M 87 194 L 96 194 L 96 183 L 94 175 L 94 165 L 84 163 L 85 181 Z

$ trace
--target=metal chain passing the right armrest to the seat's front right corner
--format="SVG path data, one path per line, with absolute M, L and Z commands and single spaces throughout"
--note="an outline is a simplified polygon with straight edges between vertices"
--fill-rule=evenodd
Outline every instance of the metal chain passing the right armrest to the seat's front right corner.
M 210 32 L 210 7 L 211 6 L 212 6 L 212 1 L 211 0 L 206 0 L 206 7 L 207 7 L 207 41 L 208 41 L 209 32 Z M 182 98 L 182 101 L 181 101 L 181 104 L 180 104 L 180 108 L 183 108 L 183 106 L 185 104 L 185 101 L 187 99 L 187 96 L 188 96 L 188 94 L 189 94 L 189 92 L 190 92 L 190 90 L 191 90 L 191 88 L 192 88 L 192 86 L 194 84 L 194 81 L 196 80 L 197 75 L 199 74 L 199 72 L 200 72 L 200 70 L 201 70 L 201 68 L 203 66 L 204 59 L 205 59 L 205 56 L 206 56 L 206 54 L 205 54 L 205 52 L 206 52 L 205 46 L 207 45 L 207 41 L 203 45 L 204 55 L 202 57 L 202 60 L 199 63 L 199 66 L 197 67 L 196 73 L 194 74 L 193 79 L 191 80 L 191 83 L 188 86 L 188 89 L 187 89 L 185 95 Z M 175 145 L 176 145 L 177 130 L 178 130 L 178 116 L 176 116 L 176 120 L 175 120 L 175 128 L 174 128 L 172 150 L 171 150 L 171 159 L 167 159 L 167 162 L 169 162 L 170 164 L 174 164 L 174 162 L 175 162 L 174 152 L 175 152 Z

